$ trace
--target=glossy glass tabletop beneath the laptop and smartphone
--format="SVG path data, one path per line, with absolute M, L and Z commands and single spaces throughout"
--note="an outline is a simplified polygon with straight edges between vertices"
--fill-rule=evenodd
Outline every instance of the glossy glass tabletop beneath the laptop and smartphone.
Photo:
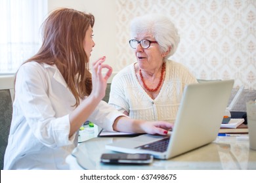
M 103 153 L 115 153 L 106 150 L 105 145 L 119 139 L 131 137 L 95 137 L 81 142 L 66 158 L 70 169 L 256 169 L 256 151 L 249 149 L 248 136 L 217 137 L 201 148 L 168 160 L 154 159 L 150 165 L 105 165 L 100 163 Z

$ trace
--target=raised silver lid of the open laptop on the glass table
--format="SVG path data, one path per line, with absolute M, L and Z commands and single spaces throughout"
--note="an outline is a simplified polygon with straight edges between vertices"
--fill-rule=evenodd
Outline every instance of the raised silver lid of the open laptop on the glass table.
M 190 84 L 184 89 L 167 158 L 216 139 L 234 80 Z

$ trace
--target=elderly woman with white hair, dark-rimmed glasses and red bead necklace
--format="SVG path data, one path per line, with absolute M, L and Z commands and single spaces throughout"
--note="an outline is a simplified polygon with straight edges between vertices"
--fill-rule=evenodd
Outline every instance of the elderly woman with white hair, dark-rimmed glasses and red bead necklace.
M 148 14 L 131 22 L 129 44 L 137 61 L 112 80 L 109 102 L 131 118 L 175 121 L 186 84 L 196 78 L 181 63 L 169 60 L 179 35 L 165 16 Z

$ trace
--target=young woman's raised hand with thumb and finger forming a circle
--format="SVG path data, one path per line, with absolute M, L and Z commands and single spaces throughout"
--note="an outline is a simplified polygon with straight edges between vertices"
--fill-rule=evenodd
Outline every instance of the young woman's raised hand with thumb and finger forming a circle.
M 106 57 L 102 57 L 98 60 L 96 60 L 93 63 L 93 69 L 92 69 L 92 80 L 93 80 L 93 90 L 91 92 L 91 95 L 94 95 L 96 98 L 103 99 L 103 97 L 106 94 L 106 85 L 108 78 L 112 75 L 112 67 L 107 64 L 103 64 Z M 106 75 L 102 75 L 102 69 L 108 69 L 106 72 Z

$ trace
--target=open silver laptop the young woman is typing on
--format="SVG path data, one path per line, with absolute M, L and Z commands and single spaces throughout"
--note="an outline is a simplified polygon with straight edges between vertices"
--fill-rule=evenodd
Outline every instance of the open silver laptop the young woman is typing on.
M 234 80 L 221 80 L 187 85 L 173 130 L 166 136 L 139 135 L 106 144 L 106 149 L 169 159 L 215 141 L 233 84 Z

